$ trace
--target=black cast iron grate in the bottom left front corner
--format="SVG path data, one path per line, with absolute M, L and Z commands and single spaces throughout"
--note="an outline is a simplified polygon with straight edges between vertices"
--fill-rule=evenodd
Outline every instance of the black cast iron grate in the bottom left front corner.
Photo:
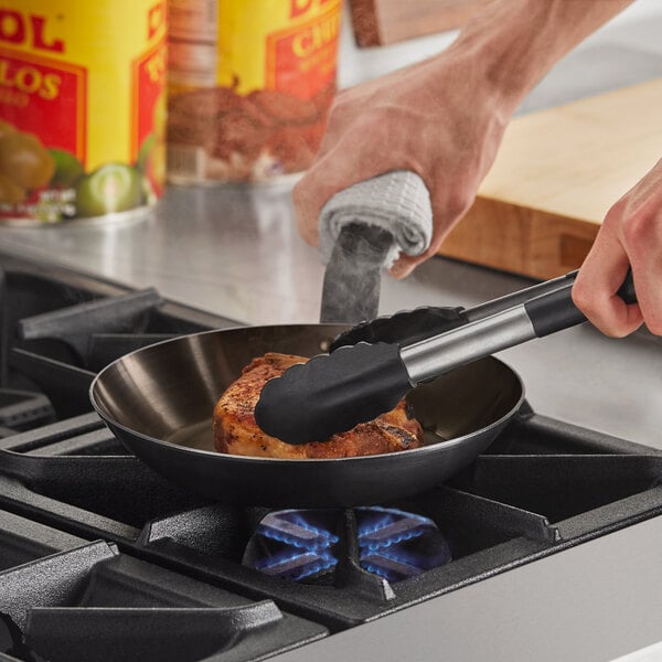
M 255 660 L 319 624 L 0 511 L 0 655 L 25 662 Z

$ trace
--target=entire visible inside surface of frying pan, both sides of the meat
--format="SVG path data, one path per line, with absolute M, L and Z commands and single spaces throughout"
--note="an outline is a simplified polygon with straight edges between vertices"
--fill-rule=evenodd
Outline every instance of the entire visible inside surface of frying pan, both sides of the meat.
M 242 369 L 266 352 L 313 356 L 344 327 L 292 324 L 211 331 L 128 354 L 93 384 L 99 413 L 138 435 L 214 451 L 213 408 Z M 494 424 L 522 397 L 516 374 L 483 359 L 418 386 L 408 399 L 430 440 L 453 439 Z

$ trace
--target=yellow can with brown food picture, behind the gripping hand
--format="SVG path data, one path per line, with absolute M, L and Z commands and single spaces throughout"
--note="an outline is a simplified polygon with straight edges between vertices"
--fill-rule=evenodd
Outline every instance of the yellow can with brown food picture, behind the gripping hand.
M 170 0 L 168 179 L 305 170 L 335 94 L 341 0 Z

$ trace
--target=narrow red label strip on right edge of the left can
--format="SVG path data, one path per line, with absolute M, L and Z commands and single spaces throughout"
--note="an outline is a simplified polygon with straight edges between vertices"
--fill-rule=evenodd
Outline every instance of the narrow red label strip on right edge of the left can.
M 145 139 L 152 132 L 163 135 L 167 46 L 163 41 L 132 63 L 131 159 L 138 157 Z

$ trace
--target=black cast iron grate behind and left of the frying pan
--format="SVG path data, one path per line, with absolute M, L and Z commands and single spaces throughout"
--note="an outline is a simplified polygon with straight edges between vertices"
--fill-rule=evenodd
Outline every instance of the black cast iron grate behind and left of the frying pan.
M 236 323 L 163 301 L 152 288 L 38 266 L 0 270 L 0 438 L 90 412 L 94 375 L 130 351 L 228 325 Z

